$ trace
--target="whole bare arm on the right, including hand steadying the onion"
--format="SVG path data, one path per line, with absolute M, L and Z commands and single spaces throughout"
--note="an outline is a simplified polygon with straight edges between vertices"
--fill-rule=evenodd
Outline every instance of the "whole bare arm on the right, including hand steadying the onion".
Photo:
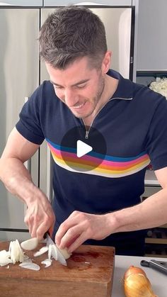
M 142 230 L 167 223 L 167 167 L 155 173 L 163 189 L 137 206 L 105 215 L 71 213 L 57 231 L 59 247 L 69 247 L 69 252 L 73 252 L 90 238 L 102 240 L 115 232 Z

